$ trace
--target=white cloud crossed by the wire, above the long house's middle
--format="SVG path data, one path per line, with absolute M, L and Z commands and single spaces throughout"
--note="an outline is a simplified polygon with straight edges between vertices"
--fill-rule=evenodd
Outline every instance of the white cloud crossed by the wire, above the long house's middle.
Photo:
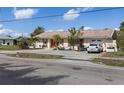
M 71 9 L 68 12 L 64 13 L 63 19 L 64 20 L 74 20 L 80 16 L 80 12 L 86 12 L 86 11 L 90 11 L 92 9 L 93 9 L 92 7 Z

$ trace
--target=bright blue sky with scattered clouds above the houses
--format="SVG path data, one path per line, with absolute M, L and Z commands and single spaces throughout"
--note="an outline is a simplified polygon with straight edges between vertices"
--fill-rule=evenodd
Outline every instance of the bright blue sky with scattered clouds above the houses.
M 104 8 L 105 7 L 1 7 L 0 21 L 58 14 L 62 16 L 0 22 L 0 35 L 18 37 L 23 34 L 24 36 L 29 36 L 38 26 L 44 27 L 45 31 L 51 32 L 67 31 L 71 27 L 79 29 L 81 26 L 85 26 L 85 29 L 119 28 L 120 23 L 124 21 L 124 8 L 68 15 L 70 13 L 80 13 Z

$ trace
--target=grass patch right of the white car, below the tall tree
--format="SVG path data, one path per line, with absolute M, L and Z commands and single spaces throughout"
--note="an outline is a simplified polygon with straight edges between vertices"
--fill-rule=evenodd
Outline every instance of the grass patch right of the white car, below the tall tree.
M 102 55 L 103 57 L 124 57 L 124 52 L 106 52 Z

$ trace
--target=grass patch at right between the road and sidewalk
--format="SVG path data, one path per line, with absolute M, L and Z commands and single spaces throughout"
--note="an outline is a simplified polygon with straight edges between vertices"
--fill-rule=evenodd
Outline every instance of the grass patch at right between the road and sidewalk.
M 92 61 L 94 63 L 97 63 L 97 64 L 105 64 L 105 65 L 109 65 L 109 66 L 124 67 L 124 61 L 123 60 L 112 60 L 112 59 L 95 58 Z

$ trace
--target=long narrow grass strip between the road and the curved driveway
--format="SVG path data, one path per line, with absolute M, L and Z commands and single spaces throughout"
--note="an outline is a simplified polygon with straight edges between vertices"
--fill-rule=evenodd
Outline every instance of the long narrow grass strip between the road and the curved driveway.
M 34 54 L 34 53 L 17 53 L 17 54 L 7 54 L 12 57 L 19 58 L 38 58 L 38 59 L 60 59 L 61 55 L 50 55 L 50 54 Z

